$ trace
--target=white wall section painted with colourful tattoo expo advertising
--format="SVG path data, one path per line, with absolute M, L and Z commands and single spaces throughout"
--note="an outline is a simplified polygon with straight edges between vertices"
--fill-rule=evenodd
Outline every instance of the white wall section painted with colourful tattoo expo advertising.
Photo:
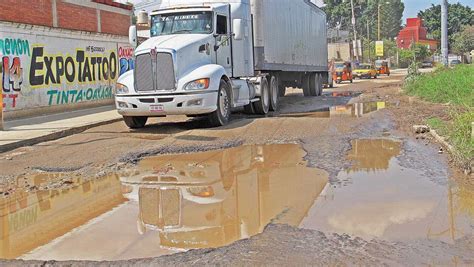
M 4 111 L 112 103 L 117 78 L 134 67 L 126 42 L 114 35 L 0 23 Z

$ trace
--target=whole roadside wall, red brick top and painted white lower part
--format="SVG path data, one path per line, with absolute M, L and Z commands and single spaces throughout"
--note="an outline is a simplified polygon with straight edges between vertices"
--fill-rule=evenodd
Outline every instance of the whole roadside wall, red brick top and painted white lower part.
M 5 118 L 113 103 L 134 67 L 133 7 L 112 0 L 0 1 L 0 87 Z

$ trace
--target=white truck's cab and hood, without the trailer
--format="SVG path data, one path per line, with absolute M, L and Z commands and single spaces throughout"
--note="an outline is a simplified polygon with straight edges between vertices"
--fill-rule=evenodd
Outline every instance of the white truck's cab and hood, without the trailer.
M 250 103 L 255 94 L 248 82 L 235 79 L 254 75 L 250 8 L 241 5 L 187 4 L 151 13 L 150 39 L 137 46 L 136 68 L 117 85 L 116 107 L 129 127 L 166 115 L 207 115 L 219 126 L 231 109 Z M 136 28 L 130 32 L 136 45 Z

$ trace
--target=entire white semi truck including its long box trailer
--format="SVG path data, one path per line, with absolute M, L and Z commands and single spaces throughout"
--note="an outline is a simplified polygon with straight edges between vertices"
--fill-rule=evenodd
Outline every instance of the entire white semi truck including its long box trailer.
M 278 109 L 286 87 L 318 96 L 328 78 L 326 14 L 309 0 L 163 0 L 135 69 L 117 81 L 116 107 L 130 128 L 149 117 Z

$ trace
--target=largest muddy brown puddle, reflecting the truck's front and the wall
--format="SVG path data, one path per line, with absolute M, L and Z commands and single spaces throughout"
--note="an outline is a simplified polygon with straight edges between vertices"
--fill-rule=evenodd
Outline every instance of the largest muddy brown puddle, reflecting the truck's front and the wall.
M 298 226 L 328 181 L 305 154 L 295 144 L 241 146 L 150 157 L 88 182 L 54 175 L 69 182 L 0 200 L 0 258 L 156 257 L 224 246 L 270 222 Z

